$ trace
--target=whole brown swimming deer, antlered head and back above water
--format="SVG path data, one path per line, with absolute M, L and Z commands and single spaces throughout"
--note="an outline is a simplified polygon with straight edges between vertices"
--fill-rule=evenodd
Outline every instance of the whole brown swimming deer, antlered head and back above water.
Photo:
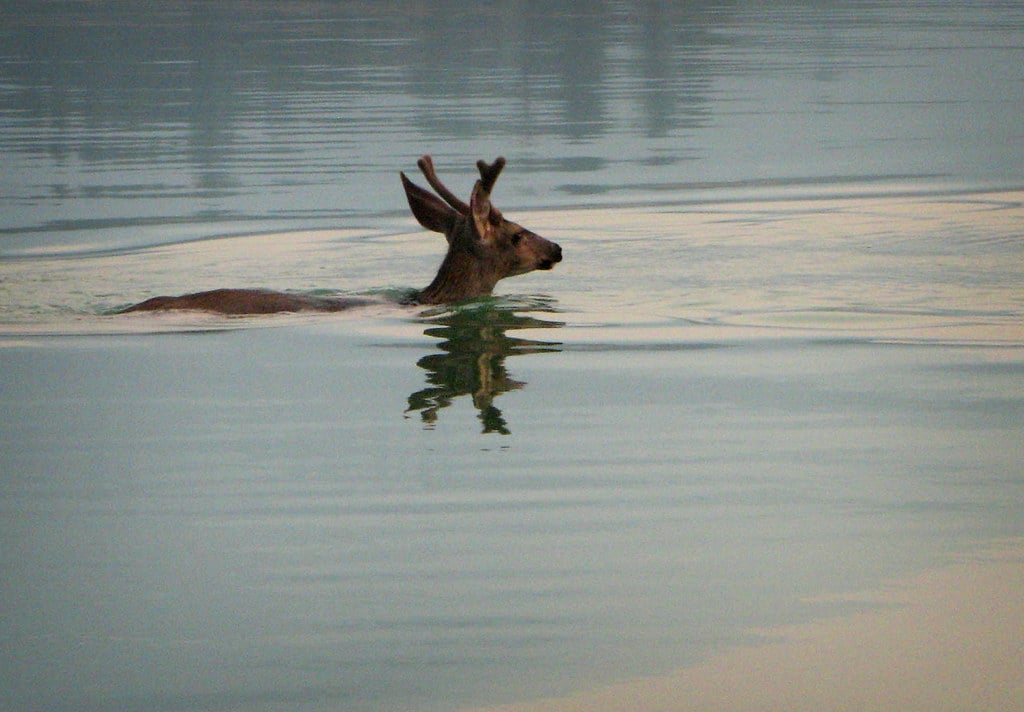
M 535 269 L 551 269 L 561 261 L 562 248 L 505 219 L 502 212 L 490 204 L 490 192 L 505 167 L 504 158 L 499 157 L 490 164 L 476 162 L 480 179 L 473 186 L 468 205 L 437 178 L 430 156 L 421 158 L 417 165 L 437 195 L 420 187 L 400 173 L 409 207 L 421 225 L 444 235 L 449 249 L 434 281 L 414 295 L 415 303 L 446 304 L 484 296 L 490 294 L 499 280 Z M 371 299 L 292 294 L 266 289 L 215 289 L 177 297 L 153 297 L 123 311 L 200 309 L 248 315 L 340 311 L 371 303 L 374 303 Z

